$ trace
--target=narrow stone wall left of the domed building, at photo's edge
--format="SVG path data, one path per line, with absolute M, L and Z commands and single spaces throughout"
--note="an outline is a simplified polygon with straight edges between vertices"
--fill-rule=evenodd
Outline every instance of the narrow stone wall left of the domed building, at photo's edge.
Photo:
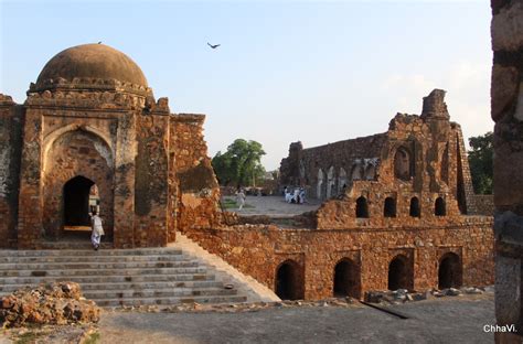
M 17 241 L 23 109 L 0 94 L 0 247 Z

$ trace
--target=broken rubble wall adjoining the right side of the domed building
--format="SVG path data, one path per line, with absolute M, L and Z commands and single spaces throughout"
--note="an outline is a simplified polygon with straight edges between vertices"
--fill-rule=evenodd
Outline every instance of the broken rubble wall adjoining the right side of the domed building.
M 178 228 L 211 228 L 221 222 L 220 187 L 207 157 L 203 139 L 203 115 L 172 115 L 170 117 L 171 154 L 174 154 L 178 185 Z M 174 179 L 174 180 L 172 180 Z M 173 203 L 174 204 L 174 203 Z M 171 208 L 172 211 L 172 208 Z

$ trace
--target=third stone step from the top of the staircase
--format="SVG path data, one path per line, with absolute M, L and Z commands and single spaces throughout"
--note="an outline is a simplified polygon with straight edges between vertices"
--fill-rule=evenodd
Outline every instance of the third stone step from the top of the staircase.
M 154 269 L 154 268 L 190 268 L 198 267 L 196 260 L 186 261 L 122 261 L 122 262 L 26 262 L 0 264 L 0 270 L 115 270 L 115 269 Z

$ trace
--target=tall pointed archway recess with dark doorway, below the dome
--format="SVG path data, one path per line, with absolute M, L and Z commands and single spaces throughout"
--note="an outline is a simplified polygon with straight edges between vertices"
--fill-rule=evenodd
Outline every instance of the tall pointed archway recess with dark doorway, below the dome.
M 111 237 L 115 187 L 110 148 L 103 138 L 82 129 L 64 132 L 50 144 L 42 173 L 42 224 L 45 236 L 60 238 L 64 235 L 64 226 L 72 219 L 65 217 L 66 213 L 73 214 L 73 224 L 85 224 L 85 215 L 75 215 L 73 207 L 79 206 L 85 213 L 88 207 L 87 185 L 90 187 L 96 184 L 104 230 Z M 75 217 L 83 218 L 79 221 Z

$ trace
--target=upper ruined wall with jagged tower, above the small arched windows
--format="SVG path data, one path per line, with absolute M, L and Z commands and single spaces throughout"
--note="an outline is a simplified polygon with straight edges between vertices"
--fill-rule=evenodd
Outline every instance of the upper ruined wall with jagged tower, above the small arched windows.
M 420 116 L 397 114 L 385 133 L 309 149 L 291 143 L 280 172 L 281 185 L 298 183 L 321 200 L 377 181 L 397 195 L 444 193 L 462 214 L 478 214 L 461 128 L 449 121 L 441 89 L 424 98 Z

